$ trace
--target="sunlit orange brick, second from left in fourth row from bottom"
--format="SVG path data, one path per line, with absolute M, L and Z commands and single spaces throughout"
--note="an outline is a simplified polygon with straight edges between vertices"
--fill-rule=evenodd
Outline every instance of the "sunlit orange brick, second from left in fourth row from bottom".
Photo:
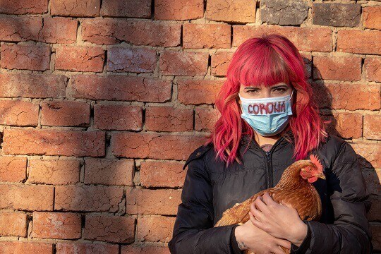
M 75 184 L 79 182 L 78 159 L 35 159 L 29 161 L 30 183 Z

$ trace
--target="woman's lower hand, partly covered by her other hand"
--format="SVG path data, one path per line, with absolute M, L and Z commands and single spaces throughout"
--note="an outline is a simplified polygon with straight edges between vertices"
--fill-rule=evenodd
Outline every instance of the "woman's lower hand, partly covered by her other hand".
M 275 238 L 262 229 L 258 229 L 250 219 L 245 224 L 236 227 L 235 236 L 241 250 L 251 250 L 253 253 L 284 254 L 280 246 L 291 248 L 289 241 Z

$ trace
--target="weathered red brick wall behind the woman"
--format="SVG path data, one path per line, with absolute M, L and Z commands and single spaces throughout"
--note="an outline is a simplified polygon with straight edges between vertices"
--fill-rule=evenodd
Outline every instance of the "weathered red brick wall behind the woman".
M 169 253 L 184 161 L 231 56 L 300 49 L 330 131 L 361 155 L 381 250 L 381 2 L 0 1 L 0 253 Z

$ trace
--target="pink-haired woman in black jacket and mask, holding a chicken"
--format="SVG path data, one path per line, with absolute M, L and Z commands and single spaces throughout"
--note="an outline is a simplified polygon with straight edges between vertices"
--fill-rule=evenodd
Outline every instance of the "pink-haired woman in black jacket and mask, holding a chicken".
M 215 103 L 221 117 L 184 165 L 171 253 L 284 253 L 281 246 L 291 253 L 373 250 L 369 194 L 356 153 L 325 131 L 303 66 L 294 44 L 280 35 L 250 38 L 238 47 Z M 213 227 L 225 210 L 274 187 L 286 167 L 311 153 L 326 177 L 313 183 L 322 200 L 319 222 L 302 221 L 296 210 L 263 195 L 245 224 Z M 271 230 L 261 229 L 258 218 Z

